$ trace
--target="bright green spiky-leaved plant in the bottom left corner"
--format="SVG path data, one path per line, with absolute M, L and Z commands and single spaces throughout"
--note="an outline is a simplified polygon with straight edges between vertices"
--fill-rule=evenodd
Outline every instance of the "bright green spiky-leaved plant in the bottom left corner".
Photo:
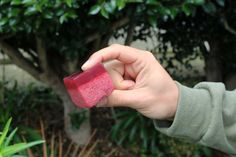
M 21 143 L 11 144 L 11 141 L 17 131 L 17 128 L 16 128 L 12 132 L 8 133 L 11 121 L 12 119 L 10 118 L 7 121 L 6 125 L 4 126 L 3 131 L 0 132 L 0 135 L 1 135 L 0 136 L 0 157 L 24 157 L 24 156 L 19 156 L 19 155 L 17 156 L 16 154 L 29 147 L 44 143 L 43 140 L 39 140 L 39 141 L 30 142 L 30 143 L 21 142 Z

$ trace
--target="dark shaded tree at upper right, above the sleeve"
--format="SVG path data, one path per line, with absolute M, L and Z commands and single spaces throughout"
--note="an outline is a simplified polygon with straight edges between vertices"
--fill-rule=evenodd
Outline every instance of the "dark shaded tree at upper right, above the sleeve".
M 231 0 L 208 1 L 192 15 L 179 14 L 174 20 L 162 21 L 159 28 L 166 32 L 158 34 L 159 50 L 165 52 L 170 43 L 173 58 L 185 65 L 188 65 L 186 58 L 191 56 L 192 60 L 201 55 L 205 61 L 205 79 L 228 84 L 236 70 L 235 6 Z

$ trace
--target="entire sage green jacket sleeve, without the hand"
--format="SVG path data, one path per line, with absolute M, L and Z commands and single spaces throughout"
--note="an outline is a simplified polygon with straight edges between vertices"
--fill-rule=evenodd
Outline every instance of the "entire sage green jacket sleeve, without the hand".
M 194 88 L 177 84 L 175 118 L 154 120 L 156 129 L 236 156 L 236 90 L 226 91 L 222 83 L 202 82 Z

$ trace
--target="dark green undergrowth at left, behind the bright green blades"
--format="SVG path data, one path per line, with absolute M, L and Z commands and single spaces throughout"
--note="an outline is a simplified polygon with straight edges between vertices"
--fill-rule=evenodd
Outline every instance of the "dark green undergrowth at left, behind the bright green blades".
M 34 84 L 29 84 L 26 87 L 20 87 L 16 82 L 1 82 L 1 84 L 3 99 L 0 102 L 0 125 L 5 124 L 10 117 L 13 117 L 13 126 L 18 127 L 18 132 L 13 138 L 14 143 L 24 140 L 40 140 L 40 133 L 33 129 L 35 126 L 25 123 L 26 121 L 28 123 L 39 121 L 39 118 L 43 116 L 38 110 L 39 106 L 47 105 L 48 109 L 58 108 L 56 106 L 60 103 L 58 97 L 51 89 Z M 33 149 L 36 151 L 36 148 Z

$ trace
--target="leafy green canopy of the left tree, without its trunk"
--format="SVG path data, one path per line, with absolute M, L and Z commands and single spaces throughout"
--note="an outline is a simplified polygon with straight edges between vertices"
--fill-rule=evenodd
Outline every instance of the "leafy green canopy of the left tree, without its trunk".
M 83 61 L 92 50 L 91 43 L 98 37 L 105 42 L 120 27 L 125 28 L 131 23 L 137 26 L 156 25 L 157 18 L 174 18 L 181 11 L 189 15 L 191 10 L 203 3 L 204 0 L 1 0 L 0 35 L 14 48 L 27 52 L 30 59 L 26 59 L 39 67 L 42 63 L 35 39 L 40 37 L 45 43 L 47 56 L 57 60 L 54 68 L 65 70 L 58 62 L 76 58 Z M 109 20 L 106 19 L 108 17 Z M 128 20 L 119 24 L 125 17 Z M 134 39 L 145 39 L 148 34 L 144 33 L 137 32 Z M 100 46 L 104 46 L 104 42 Z

